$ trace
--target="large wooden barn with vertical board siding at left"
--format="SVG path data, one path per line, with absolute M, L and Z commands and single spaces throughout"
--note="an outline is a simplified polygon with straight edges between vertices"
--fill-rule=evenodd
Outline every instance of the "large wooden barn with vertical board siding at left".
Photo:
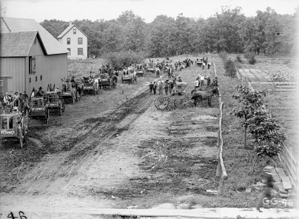
M 0 17 L 0 93 L 61 87 L 68 50 L 32 19 Z

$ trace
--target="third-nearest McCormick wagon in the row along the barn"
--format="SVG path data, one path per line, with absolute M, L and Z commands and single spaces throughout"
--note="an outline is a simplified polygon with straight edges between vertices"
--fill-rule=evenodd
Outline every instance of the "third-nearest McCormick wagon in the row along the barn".
M 55 109 L 56 111 L 59 111 L 59 115 L 64 112 L 64 100 L 61 97 L 60 91 L 47 91 L 46 92 L 47 99 L 46 99 L 46 105 L 48 109 Z

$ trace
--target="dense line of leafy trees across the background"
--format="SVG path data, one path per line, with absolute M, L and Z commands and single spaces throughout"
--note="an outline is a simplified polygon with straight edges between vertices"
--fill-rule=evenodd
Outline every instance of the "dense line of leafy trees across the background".
M 245 53 L 295 55 L 298 47 L 299 7 L 294 14 L 278 14 L 268 7 L 246 17 L 241 7 L 222 7 L 221 12 L 203 18 L 178 14 L 158 15 L 151 23 L 124 11 L 117 19 L 74 20 L 87 36 L 90 55 L 132 51 L 144 57 L 173 56 L 179 53 Z M 40 23 L 55 38 L 68 21 Z

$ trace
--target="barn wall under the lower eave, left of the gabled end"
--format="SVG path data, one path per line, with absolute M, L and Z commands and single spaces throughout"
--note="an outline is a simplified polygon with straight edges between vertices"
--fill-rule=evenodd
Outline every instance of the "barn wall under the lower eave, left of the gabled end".
M 5 83 L 1 92 L 8 92 L 9 94 L 23 92 L 25 89 L 25 57 L 1 57 L 0 65 L 0 78 L 1 80 L 7 79 L 7 86 Z M 4 76 L 11 76 L 11 78 Z

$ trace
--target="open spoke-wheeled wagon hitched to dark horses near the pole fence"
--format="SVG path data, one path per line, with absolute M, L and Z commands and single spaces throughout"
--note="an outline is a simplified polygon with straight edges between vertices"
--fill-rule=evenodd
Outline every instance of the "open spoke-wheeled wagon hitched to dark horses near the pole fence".
M 191 95 L 186 94 L 184 89 L 188 83 L 177 82 L 177 86 L 184 86 L 182 89 L 173 92 L 171 96 L 160 95 L 154 100 L 154 106 L 160 110 L 170 110 L 172 108 L 186 109 L 191 107 L 193 102 L 191 101 Z

